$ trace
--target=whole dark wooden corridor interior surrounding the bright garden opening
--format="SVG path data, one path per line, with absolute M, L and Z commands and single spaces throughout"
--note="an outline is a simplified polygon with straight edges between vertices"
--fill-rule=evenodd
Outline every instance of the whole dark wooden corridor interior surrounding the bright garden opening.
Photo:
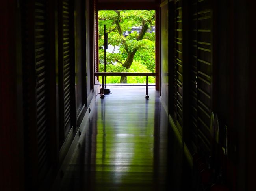
M 1 1 L 0 190 L 255 191 L 255 7 Z M 149 100 L 98 96 L 97 13 L 123 9 L 156 13 Z

